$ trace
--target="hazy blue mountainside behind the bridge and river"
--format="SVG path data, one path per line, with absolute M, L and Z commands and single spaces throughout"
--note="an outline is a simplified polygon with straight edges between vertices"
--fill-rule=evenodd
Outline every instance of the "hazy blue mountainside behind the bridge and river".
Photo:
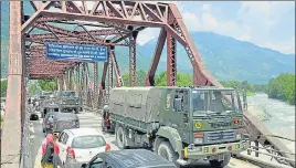
M 7 74 L 8 64 L 8 8 L 1 11 L 1 77 Z M 283 54 L 249 42 L 219 35 L 212 32 L 191 32 L 207 69 L 220 81 L 247 80 L 251 83 L 267 83 L 281 73 L 295 73 L 295 54 Z M 137 69 L 147 71 L 156 48 L 156 39 L 137 46 Z M 166 71 L 163 50 L 158 72 Z M 128 48 L 117 48 L 116 55 L 123 73 L 128 72 Z M 192 67 L 183 48 L 178 44 L 178 71 L 192 74 Z M 101 65 L 102 66 L 102 65 Z

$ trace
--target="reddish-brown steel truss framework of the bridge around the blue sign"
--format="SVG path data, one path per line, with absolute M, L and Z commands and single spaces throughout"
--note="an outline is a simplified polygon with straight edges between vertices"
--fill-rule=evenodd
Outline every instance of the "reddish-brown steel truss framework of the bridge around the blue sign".
M 91 107 L 96 107 L 94 104 L 102 107 L 102 105 L 108 102 L 108 93 L 114 85 L 113 80 L 116 80 L 116 86 L 124 85 L 114 52 L 115 46 L 129 46 L 129 83 L 130 86 L 136 86 L 137 34 L 146 28 L 160 28 L 161 32 L 158 39 L 158 45 L 146 76 L 147 86 L 155 85 L 154 76 L 166 40 L 168 48 L 168 85 L 177 84 L 176 44 L 178 42 L 186 49 L 193 66 L 194 85 L 221 86 L 205 70 L 176 4 L 141 1 L 96 1 L 92 7 L 86 6 L 82 1 L 81 4 L 82 7 L 78 7 L 76 2 L 72 1 L 31 1 L 31 6 L 35 12 L 29 15 L 29 18 L 24 17 L 28 20 L 21 22 L 18 17 L 21 15 L 20 9 L 22 3 L 18 1 L 10 3 L 12 24 L 10 28 L 11 61 L 9 64 L 9 85 L 15 84 L 23 86 L 23 78 L 27 76 L 34 80 L 55 78 L 59 83 L 63 83 L 64 90 L 70 87 L 78 90 L 75 86 L 72 87 L 73 82 L 71 82 L 77 75 L 80 76 L 77 80 L 80 91 L 86 101 L 84 103 Z M 53 8 L 55 10 L 52 10 Z M 68 27 L 59 27 L 57 24 L 67 24 Z M 76 25 L 75 28 L 80 28 L 81 30 L 71 30 L 73 27 L 70 25 Z M 92 30 L 89 29 L 91 27 Z M 34 30 L 46 31 L 46 33 L 36 33 Z M 107 45 L 109 53 L 108 61 L 103 64 L 102 71 L 98 70 L 98 64 L 96 63 L 92 76 L 87 63 L 47 60 L 44 53 L 44 43 L 46 42 Z M 22 60 L 24 60 L 24 63 Z M 17 67 L 17 65 L 19 66 Z M 24 69 L 24 65 L 28 67 Z M 80 65 L 82 65 L 81 69 L 77 67 Z M 81 70 L 76 75 L 75 69 Z M 25 73 L 22 73 L 23 71 Z M 101 81 L 97 78 L 98 73 L 102 73 Z M 18 75 L 17 78 L 15 75 Z M 91 76 L 94 82 L 92 82 Z M 107 84 L 106 80 L 108 80 Z M 61 84 L 59 87 L 62 87 Z M 13 88 L 12 86 L 8 88 L 8 103 L 14 98 L 12 97 L 14 93 L 11 93 Z M 15 95 L 22 95 L 20 93 L 24 88 L 18 87 L 13 91 L 17 91 Z M 98 97 L 96 97 L 96 94 L 98 94 Z M 24 104 L 21 98 L 19 98 L 18 103 Z M 9 111 L 11 109 L 14 109 L 14 107 L 9 107 Z M 20 111 L 15 109 L 14 112 Z M 20 115 L 15 114 L 15 116 Z

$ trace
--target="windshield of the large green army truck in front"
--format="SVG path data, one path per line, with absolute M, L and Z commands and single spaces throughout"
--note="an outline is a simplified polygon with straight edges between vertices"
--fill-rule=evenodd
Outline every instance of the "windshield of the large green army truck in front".
M 192 91 L 194 111 L 211 111 L 222 113 L 226 111 L 242 112 L 235 91 Z

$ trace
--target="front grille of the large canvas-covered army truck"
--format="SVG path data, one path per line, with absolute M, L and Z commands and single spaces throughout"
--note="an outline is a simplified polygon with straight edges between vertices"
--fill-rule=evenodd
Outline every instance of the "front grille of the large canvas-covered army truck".
M 204 143 L 205 144 L 216 144 L 235 141 L 235 130 L 218 130 L 218 132 L 205 132 Z

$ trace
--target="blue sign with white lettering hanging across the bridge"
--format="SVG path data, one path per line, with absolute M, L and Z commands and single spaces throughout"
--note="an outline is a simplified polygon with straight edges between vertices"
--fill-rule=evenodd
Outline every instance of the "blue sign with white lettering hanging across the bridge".
M 61 61 L 107 62 L 108 50 L 105 45 L 46 43 L 46 57 Z

